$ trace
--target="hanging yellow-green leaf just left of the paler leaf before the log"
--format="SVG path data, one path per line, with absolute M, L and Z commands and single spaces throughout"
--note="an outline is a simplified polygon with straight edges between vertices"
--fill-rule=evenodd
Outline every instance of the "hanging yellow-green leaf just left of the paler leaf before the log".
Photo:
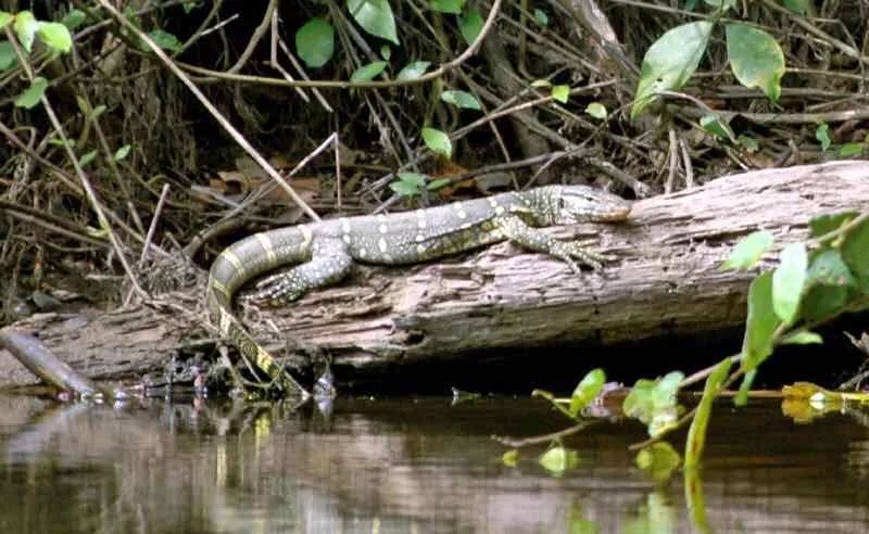
M 748 287 L 748 318 L 742 342 L 742 367 L 751 370 L 772 354 L 772 334 L 779 318 L 772 308 L 772 274 L 764 272 Z

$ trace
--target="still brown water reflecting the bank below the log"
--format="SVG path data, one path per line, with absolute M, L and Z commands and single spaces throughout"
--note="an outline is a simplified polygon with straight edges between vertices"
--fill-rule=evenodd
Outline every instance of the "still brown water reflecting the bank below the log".
M 0 396 L 0 532 L 696 532 L 682 473 L 656 484 L 634 466 L 639 424 L 566 440 L 580 461 L 557 476 L 545 447 L 506 467 L 490 437 L 565 427 L 531 398 L 339 399 L 327 415 Z M 709 430 L 696 482 L 711 532 L 869 532 L 859 415 L 797 424 L 778 402 L 721 402 Z

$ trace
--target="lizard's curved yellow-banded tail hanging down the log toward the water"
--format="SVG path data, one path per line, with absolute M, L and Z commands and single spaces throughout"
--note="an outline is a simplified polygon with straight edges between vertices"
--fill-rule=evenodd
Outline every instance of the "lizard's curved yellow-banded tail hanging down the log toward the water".
M 206 289 L 209 316 L 221 335 L 229 340 L 239 354 L 274 380 L 288 396 L 307 398 L 302 387 L 232 315 L 232 295 L 249 280 L 307 256 L 311 234 L 304 227 L 281 228 L 245 238 L 226 249 L 211 266 Z

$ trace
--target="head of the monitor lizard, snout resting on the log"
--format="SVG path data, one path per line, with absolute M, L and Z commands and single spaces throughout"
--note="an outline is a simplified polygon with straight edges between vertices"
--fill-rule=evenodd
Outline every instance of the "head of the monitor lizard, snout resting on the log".
M 630 202 L 587 186 L 554 186 L 549 202 L 556 225 L 617 223 L 631 213 Z

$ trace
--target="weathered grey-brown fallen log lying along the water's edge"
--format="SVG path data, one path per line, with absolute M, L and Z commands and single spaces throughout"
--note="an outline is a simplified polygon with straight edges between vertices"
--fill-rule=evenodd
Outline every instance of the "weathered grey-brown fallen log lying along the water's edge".
M 766 229 L 780 244 L 802 240 L 813 216 L 866 206 L 867 162 L 733 175 L 637 202 L 625 225 L 552 230 L 565 239 L 596 239 L 600 252 L 618 258 L 600 272 L 576 276 L 556 259 L 501 243 L 437 263 L 360 267 L 338 287 L 255 313 L 266 320 L 251 329 L 272 338 L 264 345 L 277 353 L 285 340 L 301 340 L 345 370 L 499 347 L 613 345 L 718 331 L 745 318 L 753 275 L 719 270 L 739 239 Z M 15 328 L 39 331 L 73 368 L 97 379 L 153 370 L 188 346 L 194 330 L 202 332 L 148 309 L 48 314 Z M 280 335 L 269 335 L 275 331 Z M 29 381 L 10 360 L 0 353 L 0 383 Z

